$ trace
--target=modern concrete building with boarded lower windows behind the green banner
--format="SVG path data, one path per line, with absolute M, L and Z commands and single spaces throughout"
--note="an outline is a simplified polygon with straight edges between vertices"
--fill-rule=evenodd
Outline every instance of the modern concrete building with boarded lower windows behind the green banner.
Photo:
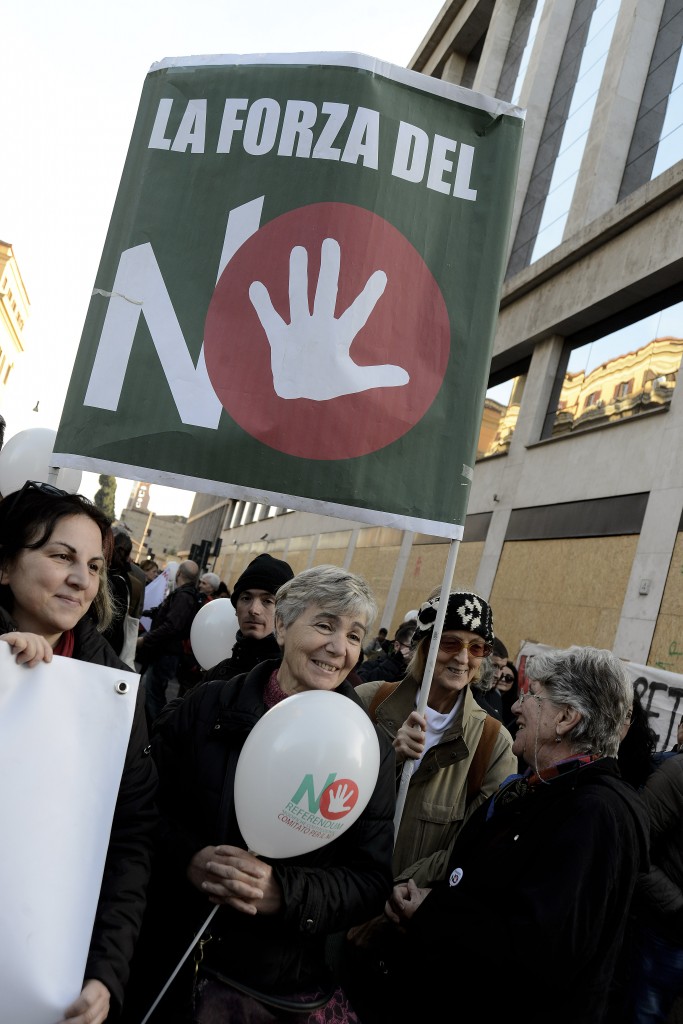
M 683 671 L 683 0 L 452 0 L 411 67 L 525 110 L 455 581 L 524 639 Z M 268 550 L 373 583 L 395 629 L 450 542 L 198 496 L 231 586 Z

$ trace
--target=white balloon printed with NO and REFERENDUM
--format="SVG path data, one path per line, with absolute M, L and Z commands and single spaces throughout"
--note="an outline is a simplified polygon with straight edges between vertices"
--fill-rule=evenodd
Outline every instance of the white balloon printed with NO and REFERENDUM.
M 370 716 L 349 697 L 309 690 L 281 700 L 247 736 L 234 775 L 249 849 L 296 857 L 337 839 L 367 807 L 379 766 Z

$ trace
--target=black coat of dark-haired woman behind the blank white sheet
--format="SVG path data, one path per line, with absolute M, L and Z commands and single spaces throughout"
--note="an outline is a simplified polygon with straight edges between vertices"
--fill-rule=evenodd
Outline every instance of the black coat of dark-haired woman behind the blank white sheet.
M 8 612 L 0 608 L 0 634 L 15 629 Z M 131 671 L 87 615 L 74 629 L 73 657 L 122 672 Z M 109 1019 L 112 1021 L 123 1002 L 129 965 L 142 922 L 152 866 L 153 834 L 158 823 L 157 770 L 150 753 L 144 692 L 138 686 L 84 975 L 84 978 L 96 978 L 109 988 L 112 994 Z

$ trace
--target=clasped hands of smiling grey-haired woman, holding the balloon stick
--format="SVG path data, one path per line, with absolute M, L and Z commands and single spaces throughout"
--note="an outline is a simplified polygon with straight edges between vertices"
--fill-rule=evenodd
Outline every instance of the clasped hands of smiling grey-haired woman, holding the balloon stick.
M 275 913 L 282 906 L 282 892 L 270 865 L 236 846 L 200 850 L 189 862 L 187 878 L 212 903 L 243 913 Z

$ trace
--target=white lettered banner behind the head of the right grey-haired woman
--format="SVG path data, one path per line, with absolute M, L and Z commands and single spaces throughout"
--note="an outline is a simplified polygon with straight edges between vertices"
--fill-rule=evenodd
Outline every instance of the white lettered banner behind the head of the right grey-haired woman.
M 524 675 L 526 659 L 533 654 L 548 653 L 556 649 L 543 643 L 529 641 L 522 643 L 516 660 L 521 689 L 526 688 Z M 650 717 L 650 725 L 657 734 L 657 751 L 670 750 L 676 742 L 676 730 L 683 714 L 681 705 L 683 676 L 677 672 L 655 669 L 651 665 L 637 665 L 635 662 L 623 662 L 623 665 L 633 679 L 643 708 Z

